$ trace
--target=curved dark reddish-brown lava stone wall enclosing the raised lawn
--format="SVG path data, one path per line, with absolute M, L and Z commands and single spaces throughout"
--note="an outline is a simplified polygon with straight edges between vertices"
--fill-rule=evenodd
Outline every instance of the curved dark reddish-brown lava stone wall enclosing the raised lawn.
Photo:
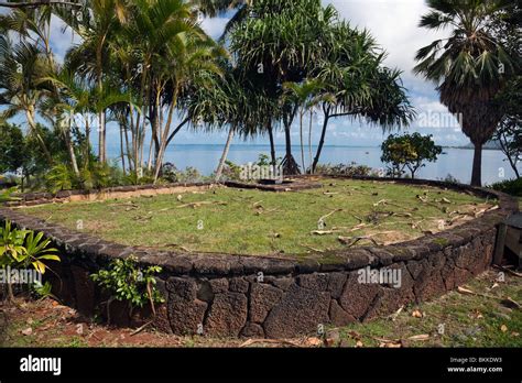
M 376 178 L 377 179 L 377 178 Z M 315 333 L 319 325 L 346 325 L 396 310 L 400 306 L 439 296 L 485 271 L 490 264 L 497 223 L 518 210 L 500 193 L 427 180 L 403 183 L 466 189 L 499 200 L 486 212 L 452 230 L 387 247 L 336 251 L 335 261 L 281 260 L 217 253 L 138 250 L 44 222 L 20 210 L 0 208 L 0 220 L 43 231 L 62 250 L 54 293 L 66 304 L 91 315 L 107 311 L 108 297 L 89 274 L 113 258 L 134 254 L 143 265 L 163 267 L 157 286 L 166 297 L 155 326 L 178 335 L 227 337 L 293 337 Z M 55 198 L 55 196 L 50 196 Z M 361 270 L 398 270 L 399 288 L 359 283 Z M 151 313 L 129 316 L 124 304 L 109 306 L 112 322 L 138 325 Z

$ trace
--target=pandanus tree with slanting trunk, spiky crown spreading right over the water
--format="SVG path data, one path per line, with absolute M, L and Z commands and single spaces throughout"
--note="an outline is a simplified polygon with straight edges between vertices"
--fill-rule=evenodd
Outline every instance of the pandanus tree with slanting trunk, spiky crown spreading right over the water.
M 319 162 L 328 122 L 340 117 L 359 119 L 383 130 L 407 125 L 414 117 L 400 72 L 383 66 L 370 33 L 346 22 L 334 25 L 312 73 L 320 80 L 323 127 L 312 172 Z

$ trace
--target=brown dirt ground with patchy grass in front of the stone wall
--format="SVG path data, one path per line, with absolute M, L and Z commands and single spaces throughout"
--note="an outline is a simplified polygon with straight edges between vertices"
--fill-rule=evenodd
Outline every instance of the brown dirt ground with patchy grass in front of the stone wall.
M 501 281 L 503 280 L 503 281 Z M 3 347 L 522 347 L 522 274 L 490 270 L 459 291 L 388 318 L 294 339 L 178 337 L 108 327 L 56 300 L 0 306 Z M 3 322 L 3 326 L 2 326 Z M 445 331 L 441 333 L 441 324 Z M 1 328 L 3 327 L 3 331 Z

